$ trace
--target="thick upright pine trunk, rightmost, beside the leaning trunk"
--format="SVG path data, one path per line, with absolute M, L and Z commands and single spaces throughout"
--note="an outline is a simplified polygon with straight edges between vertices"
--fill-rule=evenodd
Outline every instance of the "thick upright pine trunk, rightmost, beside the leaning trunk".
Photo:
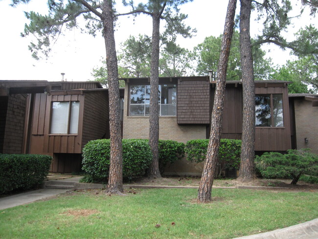
M 250 44 L 251 0 L 241 0 L 240 12 L 240 51 L 243 81 L 243 129 L 242 151 L 239 179 L 254 179 L 254 142 L 255 142 L 255 84 L 253 58 Z

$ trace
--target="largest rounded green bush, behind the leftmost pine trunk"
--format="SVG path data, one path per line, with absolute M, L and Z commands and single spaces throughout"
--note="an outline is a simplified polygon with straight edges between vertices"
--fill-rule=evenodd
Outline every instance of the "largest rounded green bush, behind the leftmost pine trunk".
M 143 175 L 151 163 L 147 140 L 123 139 L 123 178 L 131 180 Z M 83 148 L 83 167 L 87 173 L 82 181 L 107 183 L 110 167 L 110 140 L 93 140 Z

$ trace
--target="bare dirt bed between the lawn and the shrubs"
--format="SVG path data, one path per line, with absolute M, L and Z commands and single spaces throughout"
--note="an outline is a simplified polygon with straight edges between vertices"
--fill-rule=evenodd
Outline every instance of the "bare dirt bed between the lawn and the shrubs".
M 215 179 L 213 182 L 213 187 L 236 187 L 238 185 L 247 185 L 247 186 L 262 186 L 270 187 L 273 190 L 288 191 L 317 191 L 318 184 L 308 184 L 302 181 L 299 181 L 297 185 L 291 185 L 291 179 L 255 179 L 249 183 L 238 181 L 237 179 Z M 149 179 L 143 177 L 137 179 L 129 184 L 132 185 L 160 185 L 160 186 L 199 186 L 200 177 L 162 177 Z M 270 189 L 268 188 L 268 189 Z

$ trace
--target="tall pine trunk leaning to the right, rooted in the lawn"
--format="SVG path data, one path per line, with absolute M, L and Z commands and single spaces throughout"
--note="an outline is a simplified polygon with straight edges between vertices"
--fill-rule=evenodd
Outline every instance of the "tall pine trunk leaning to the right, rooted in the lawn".
M 221 55 L 218 64 L 218 76 L 216 80 L 214 104 L 211 116 L 210 141 L 207 147 L 204 169 L 198 191 L 199 202 L 211 201 L 212 184 L 216 171 L 216 162 L 222 133 L 223 102 L 227 78 L 227 62 L 234 27 L 235 9 L 236 0 L 229 0 L 224 34 L 222 38 Z

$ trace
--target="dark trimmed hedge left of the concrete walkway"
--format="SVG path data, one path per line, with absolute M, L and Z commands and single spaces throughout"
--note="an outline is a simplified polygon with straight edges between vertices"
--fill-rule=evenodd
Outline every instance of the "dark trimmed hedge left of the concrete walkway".
M 0 154 L 0 193 L 41 186 L 52 157 L 38 154 Z

